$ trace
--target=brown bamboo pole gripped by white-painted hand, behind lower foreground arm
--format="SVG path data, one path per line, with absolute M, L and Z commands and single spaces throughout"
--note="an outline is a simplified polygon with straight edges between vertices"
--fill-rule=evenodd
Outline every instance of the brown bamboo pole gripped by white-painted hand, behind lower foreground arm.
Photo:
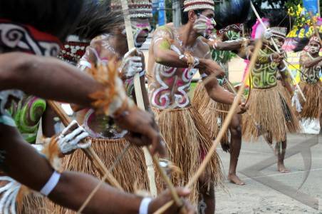
M 68 126 L 68 124 L 71 123 L 71 118 L 69 118 L 65 111 L 63 111 L 63 108 L 61 108 L 61 105 L 59 103 L 56 103 L 55 101 L 47 101 L 47 103 L 49 104 L 49 106 L 51 106 L 53 111 L 55 111 L 55 113 L 61 119 L 61 122 L 64 126 Z M 115 188 L 118 188 L 119 190 L 123 190 L 121 185 L 118 183 L 118 180 L 116 180 L 113 177 L 113 175 L 108 171 L 108 169 L 105 167 L 104 163 L 100 160 L 93 148 L 82 148 L 82 151 L 90 159 L 90 161 L 93 163 L 100 175 L 106 176 L 105 181 L 107 183 L 110 183 L 110 185 L 113 185 Z

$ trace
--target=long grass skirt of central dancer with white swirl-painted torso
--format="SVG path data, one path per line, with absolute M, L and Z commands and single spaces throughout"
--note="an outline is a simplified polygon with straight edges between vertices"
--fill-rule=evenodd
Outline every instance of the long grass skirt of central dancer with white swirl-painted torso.
M 186 185 L 212 146 L 207 126 L 202 116 L 192 106 L 173 110 L 153 110 L 167 143 L 171 161 L 183 172 L 172 175 L 172 182 L 175 185 Z M 214 186 L 222 185 L 220 165 L 219 156 L 215 153 L 207 166 L 207 175 L 209 175 L 207 179 Z M 197 204 L 199 197 L 198 189 L 198 182 L 196 182 L 192 186 L 189 197 L 194 204 Z

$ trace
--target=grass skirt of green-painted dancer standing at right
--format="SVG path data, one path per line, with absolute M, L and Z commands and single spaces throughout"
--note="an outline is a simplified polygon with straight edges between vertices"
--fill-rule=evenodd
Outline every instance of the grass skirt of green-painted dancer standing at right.
M 249 97 L 249 114 L 243 115 L 242 135 L 246 141 L 256 141 L 263 133 L 270 133 L 272 140 L 286 140 L 286 133 L 294 133 L 300 124 L 294 108 L 279 86 L 267 89 L 252 88 Z M 256 123 L 258 126 L 255 126 Z

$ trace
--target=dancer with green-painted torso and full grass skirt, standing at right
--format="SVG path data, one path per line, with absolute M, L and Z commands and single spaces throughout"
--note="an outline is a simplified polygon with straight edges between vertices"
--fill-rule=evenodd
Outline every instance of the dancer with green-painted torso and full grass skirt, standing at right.
M 274 27 L 274 24 L 278 25 L 286 16 L 284 14 L 274 14 L 273 16 L 274 18 L 269 19 L 271 26 L 273 26 L 270 28 L 269 34 L 281 49 L 287 28 Z M 286 67 L 282 63 L 285 57 L 284 52 L 277 54 L 272 50 L 274 50 L 272 44 L 261 49 L 255 68 L 250 73 L 251 91 L 247 103 L 249 114 L 243 118 L 242 133 L 246 141 L 256 140 L 261 135 L 264 135 L 270 144 L 276 141 L 277 168 L 281 173 L 286 173 L 289 171 L 284 165 L 286 133 L 295 133 L 300 126 L 294 109 L 291 108 L 291 103 L 277 86 L 278 71 L 281 78 L 286 78 Z M 284 81 L 284 83 L 289 84 L 288 81 Z

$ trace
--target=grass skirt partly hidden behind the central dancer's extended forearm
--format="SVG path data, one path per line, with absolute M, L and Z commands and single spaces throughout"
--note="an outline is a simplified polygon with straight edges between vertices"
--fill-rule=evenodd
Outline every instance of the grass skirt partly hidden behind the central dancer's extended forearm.
M 224 85 L 227 89 L 227 86 Z M 221 124 L 227 116 L 227 111 L 230 109 L 230 105 L 217 103 L 209 98 L 204 83 L 199 82 L 194 90 L 194 97 L 192 98 L 192 105 L 199 111 L 207 127 L 210 128 L 210 137 L 214 140 L 219 133 Z M 220 142 L 224 151 L 229 146 L 223 146 L 223 144 L 229 145 L 229 129 L 224 133 L 224 137 Z

